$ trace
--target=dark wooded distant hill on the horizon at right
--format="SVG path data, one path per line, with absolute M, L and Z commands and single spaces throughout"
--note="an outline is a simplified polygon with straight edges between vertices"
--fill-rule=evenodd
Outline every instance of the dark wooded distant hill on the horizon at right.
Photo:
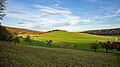
M 95 34 L 95 35 L 120 35 L 120 28 L 90 30 L 90 31 L 84 31 L 82 33 Z

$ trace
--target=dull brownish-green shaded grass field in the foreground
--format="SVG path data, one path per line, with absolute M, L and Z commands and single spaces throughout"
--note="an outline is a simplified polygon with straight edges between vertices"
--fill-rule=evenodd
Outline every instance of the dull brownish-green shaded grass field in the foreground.
M 113 53 L 90 52 L 0 42 L 1 67 L 120 67 Z

